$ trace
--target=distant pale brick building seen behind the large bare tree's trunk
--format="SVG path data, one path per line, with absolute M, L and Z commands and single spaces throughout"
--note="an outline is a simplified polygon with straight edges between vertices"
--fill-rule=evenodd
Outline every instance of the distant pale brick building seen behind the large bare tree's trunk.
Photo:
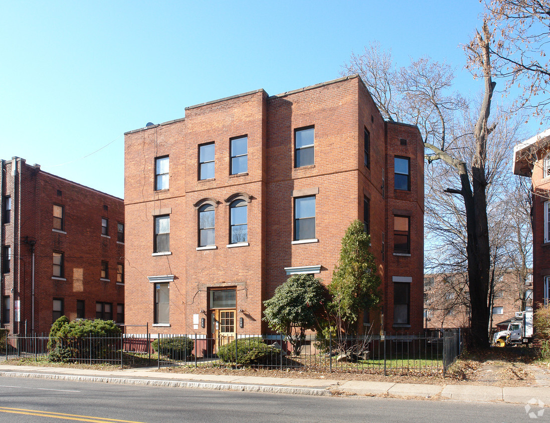
M 493 328 L 533 305 L 532 277 L 521 282 L 514 272 L 498 277 L 494 287 Z M 470 327 L 470 292 L 462 274 L 426 274 L 424 277 L 424 325 L 426 329 Z

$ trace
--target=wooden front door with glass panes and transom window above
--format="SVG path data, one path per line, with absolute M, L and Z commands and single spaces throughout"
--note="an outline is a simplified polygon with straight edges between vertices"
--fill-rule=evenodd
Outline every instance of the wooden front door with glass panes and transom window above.
M 235 289 L 210 291 L 210 336 L 212 353 L 235 339 Z

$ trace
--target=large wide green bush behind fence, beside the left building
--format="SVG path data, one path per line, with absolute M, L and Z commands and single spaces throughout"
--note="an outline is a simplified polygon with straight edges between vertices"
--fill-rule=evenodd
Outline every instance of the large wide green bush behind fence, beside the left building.
M 120 348 L 120 328 L 112 320 L 76 320 L 59 317 L 48 339 L 51 361 L 102 360 Z

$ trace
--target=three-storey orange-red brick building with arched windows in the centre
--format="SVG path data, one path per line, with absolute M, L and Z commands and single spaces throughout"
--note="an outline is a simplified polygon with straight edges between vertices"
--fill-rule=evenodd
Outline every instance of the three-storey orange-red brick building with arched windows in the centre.
M 384 122 L 357 76 L 246 92 L 129 131 L 126 323 L 265 333 L 262 301 L 294 273 L 330 282 L 359 218 L 383 280 L 365 325 L 419 332 L 423 193 L 419 130 Z

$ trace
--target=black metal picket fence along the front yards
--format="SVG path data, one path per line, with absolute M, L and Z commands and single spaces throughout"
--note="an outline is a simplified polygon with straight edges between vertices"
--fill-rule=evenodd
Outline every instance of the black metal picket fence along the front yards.
M 57 360 L 120 367 L 256 367 L 382 375 L 444 375 L 460 354 L 460 331 L 358 338 L 288 339 L 282 335 L 208 338 L 201 334 L 120 334 L 59 340 L 8 335 L 5 359 Z M 51 346 L 52 347 L 52 346 Z

